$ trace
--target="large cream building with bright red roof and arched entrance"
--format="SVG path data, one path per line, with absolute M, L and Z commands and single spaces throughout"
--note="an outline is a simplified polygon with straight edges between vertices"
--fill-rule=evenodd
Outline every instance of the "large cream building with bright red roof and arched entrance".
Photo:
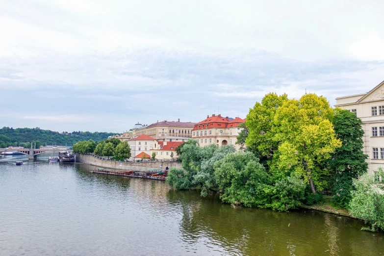
M 230 119 L 228 116 L 213 114 L 194 126 L 192 138 L 198 139 L 201 147 L 213 143 L 220 146 L 230 144 L 238 150 L 240 146 L 235 143 L 239 132 L 243 129 L 238 127 L 241 123 L 245 123 L 245 119 L 239 117 Z

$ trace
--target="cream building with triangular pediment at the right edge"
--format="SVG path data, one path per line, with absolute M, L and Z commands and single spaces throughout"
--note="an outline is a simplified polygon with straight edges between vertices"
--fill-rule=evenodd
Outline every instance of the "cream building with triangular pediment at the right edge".
M 362 121 L 368 172 L 384 167 L 384 81 L 367 93 L 336 98 L 335 106 L 355 113 Z

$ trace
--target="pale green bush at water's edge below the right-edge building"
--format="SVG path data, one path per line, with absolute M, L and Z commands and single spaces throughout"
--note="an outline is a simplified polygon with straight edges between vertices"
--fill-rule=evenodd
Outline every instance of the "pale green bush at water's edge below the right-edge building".
M 352 191 L 349 212 L 355 218 L 364 220 L 370 228 L 362 230 L 384 230 L 384 171 L 379 169 L 375 174 L 364 174 L 354 179 L 356 190 Z

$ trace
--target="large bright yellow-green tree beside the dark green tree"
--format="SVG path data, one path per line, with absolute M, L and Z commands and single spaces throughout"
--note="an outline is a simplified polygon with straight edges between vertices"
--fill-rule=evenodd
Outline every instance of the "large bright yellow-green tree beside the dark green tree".
M 330 122 L 333 116 L 326 98 L 306 94 L 299 101 L 285 101 L 274 117 L 273 140 L 279 145 L 278 154 L 273 156 L 274 166 L 283 174 L 299 174 L 313 194 L 316 187 L 327 185 L 323 178 L 330 170 L 323 164 L 341 146 Z

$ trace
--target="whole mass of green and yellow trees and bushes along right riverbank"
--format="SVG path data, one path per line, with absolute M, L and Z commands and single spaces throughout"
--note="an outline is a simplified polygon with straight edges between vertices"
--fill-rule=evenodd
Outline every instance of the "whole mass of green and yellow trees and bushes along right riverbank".
M 368 179 L 363 178 L 363 134 L 360 119 L 331 108 L 322 96 L 289 100 L 286 94 L 269 93 L 247 115 L 237 140 L 242 151 L 231 145 L 201 148 L 189 140 L 176 149 L 182 168 L 171 169 L 167 183 L 177 189 L 199 187 L 202 196 L 218 192 L 226 203 L 279 211 L 322 202 L 326 191 L 333 194 L 335 207 L 382 227 L 372 223 L 377 218 L 361 213 L 369 205 L 358 204 L 358 195 L 373 193 L 359 189 Z M 378 193 L 373 198 L 381 205 Z M 383 216 L 380 207 L 370 216 Z

